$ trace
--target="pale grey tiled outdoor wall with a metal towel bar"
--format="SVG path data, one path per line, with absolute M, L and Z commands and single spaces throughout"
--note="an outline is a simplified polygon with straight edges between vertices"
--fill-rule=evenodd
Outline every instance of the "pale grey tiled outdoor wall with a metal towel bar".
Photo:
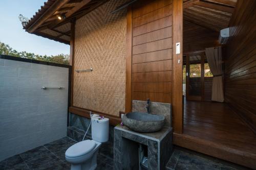
M 66 136 L 68 86 L 69 68 L 0 59 L 0 161 Z

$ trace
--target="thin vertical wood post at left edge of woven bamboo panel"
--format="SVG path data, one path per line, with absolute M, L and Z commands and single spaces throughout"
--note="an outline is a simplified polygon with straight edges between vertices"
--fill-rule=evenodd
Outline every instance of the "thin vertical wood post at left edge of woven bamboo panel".
M 75 63 L 75 25 L 76 20 L 71 21 L 71 36 L 70 36 L 70 65 L 72 65 L 72 81 L 71 81 L 71 106 L 73 106 L 73 91 L 74 91 L 74 63 Z

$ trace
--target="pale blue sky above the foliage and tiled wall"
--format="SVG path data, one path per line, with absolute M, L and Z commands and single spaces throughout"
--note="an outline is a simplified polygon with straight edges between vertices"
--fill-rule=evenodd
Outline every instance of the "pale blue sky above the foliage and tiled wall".
M 0 0 L 0 41 L 18 52 L 38 55 L 70 54 L 70 46 L 26 32 L 19 14 L 31 18 L 47 0 Z

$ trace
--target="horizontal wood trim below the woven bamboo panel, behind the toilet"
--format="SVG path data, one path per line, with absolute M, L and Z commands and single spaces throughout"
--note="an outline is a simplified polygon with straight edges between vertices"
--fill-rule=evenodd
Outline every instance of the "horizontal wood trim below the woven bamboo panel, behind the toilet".
M 116 125 L 120 124 L 121 121 L 122 121 L 121 118 L 119 118 L 119 116 L 114 116 L 114 115 L 98 112 L 98 111 L 95 111 L 95 110 L 83 109 L 83 108 L 74 107 L 74 106 L 69 107 L 69 112 L 71 112 L 73 114 L 83 116 L 83 117 L 87 117 L 87 118 L 90 118 L 90 111 L 92 113 L 99 114 L 99 115 L 102 115 L 104 117 L 109 118 L 110 119 L 110 125 L 113 125 L 113 126 L 116 126 Z

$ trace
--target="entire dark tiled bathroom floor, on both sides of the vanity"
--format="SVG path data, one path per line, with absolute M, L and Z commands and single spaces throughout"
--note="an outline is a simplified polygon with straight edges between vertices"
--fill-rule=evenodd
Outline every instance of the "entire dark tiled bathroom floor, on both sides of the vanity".
M 47 143 L 33 150 L 25 153 L 13 156 L 2 162 L 0 162 L 0 170 L 7 169 L 70 169 L 70 163 L 65 160 L 65 152 L 72 145 L 76 143 L 75 140 L 68 137 L 55 140 L 51 143 Z M 99 153 L 97 156 L 97 170 L 109 170 L 114 169 L 113 159 L 108 158 Z M 190 150 L 176 147 L 172 157 L 169 159 L 167 170 L 246 170 L 247 168 L 228 163 L 226 161 L 219 160 L 199 154 Z

